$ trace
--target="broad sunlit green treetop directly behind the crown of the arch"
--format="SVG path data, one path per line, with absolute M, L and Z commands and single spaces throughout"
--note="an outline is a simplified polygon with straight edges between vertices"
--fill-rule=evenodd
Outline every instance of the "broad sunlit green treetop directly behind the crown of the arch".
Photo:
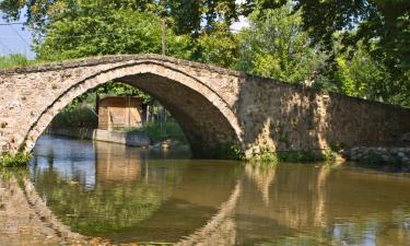
M 98 4 L 97 4 L 98 5 Z M 167 30 L 167 55 L 189 56 L 189 38 Z M 60 60 L 96 55 L 161 52 L 161 20 L 110 4 L 80 4 L 47 26 L 35 43 L 38 59 Z

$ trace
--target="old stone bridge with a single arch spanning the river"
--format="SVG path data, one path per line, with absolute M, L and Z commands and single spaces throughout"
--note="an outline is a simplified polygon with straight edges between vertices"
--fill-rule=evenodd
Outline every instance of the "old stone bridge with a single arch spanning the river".
M 31 151 L 77 96 L 113 80 L 159 99 L 192 152 L 221 142 L 247 155 L 379 145 L 410 131 L 410 110 L 157 55 L 106 56 L 0 70 L 0 150 Z

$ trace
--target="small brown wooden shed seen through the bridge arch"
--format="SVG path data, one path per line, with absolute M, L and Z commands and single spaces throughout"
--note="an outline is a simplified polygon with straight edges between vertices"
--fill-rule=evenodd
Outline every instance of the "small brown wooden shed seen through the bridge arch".
M 98 129 L 141 127 L 145 116 L 147 107 L 138 97 L 109 96 L 98 101 Z

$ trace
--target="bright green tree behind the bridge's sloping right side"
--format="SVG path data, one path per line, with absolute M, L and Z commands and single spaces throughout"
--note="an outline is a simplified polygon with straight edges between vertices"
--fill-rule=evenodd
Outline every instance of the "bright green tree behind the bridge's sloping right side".
M 241 36 L 238 69 L 291 83 L 308 80 L 323 66 L 324 55 L 309 48 L 298 13 L 291 15 L 290 5 L 249 16 L 250 27 Z

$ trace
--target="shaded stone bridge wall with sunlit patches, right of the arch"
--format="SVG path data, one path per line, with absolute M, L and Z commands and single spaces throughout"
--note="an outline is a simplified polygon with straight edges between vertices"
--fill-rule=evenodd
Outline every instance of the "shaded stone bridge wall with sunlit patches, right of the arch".
M 248 154 L 391 145 L 410 131 L 410 110 L 258 77 L 243 79 L 236 105 Z

